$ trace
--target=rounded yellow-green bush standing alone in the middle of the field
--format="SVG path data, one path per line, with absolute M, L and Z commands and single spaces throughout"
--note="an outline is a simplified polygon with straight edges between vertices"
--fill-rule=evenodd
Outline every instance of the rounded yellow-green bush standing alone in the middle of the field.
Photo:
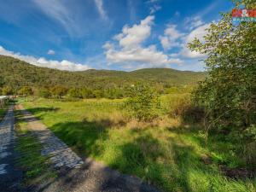
M 159 96 L 147 85 L 136 84 L 131 86 L 130 97 L 125 106 L 133 118 L 148 121 L 157 116 L 156 111 L 160 107 Z

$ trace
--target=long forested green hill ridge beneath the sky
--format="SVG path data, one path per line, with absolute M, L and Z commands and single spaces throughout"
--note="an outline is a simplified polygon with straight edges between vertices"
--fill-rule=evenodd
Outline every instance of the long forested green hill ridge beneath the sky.
M 87 70 L 67 72 L 47 67 L 37 67 L 18 59 L 0 55 L 0 86 L 103 87 L 125 86 L 138 81 L 164 86 L 195 84 L 206 73 L 178 71 L 170 68 L 145 68 L 132 72 L 113 70 Z

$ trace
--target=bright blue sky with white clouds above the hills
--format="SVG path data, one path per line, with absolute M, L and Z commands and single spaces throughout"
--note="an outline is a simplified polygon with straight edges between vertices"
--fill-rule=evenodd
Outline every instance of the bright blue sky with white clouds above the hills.
M 225 0 L 0 0 L 0 55 L 63 70 L 202 71 L 202 38 Z

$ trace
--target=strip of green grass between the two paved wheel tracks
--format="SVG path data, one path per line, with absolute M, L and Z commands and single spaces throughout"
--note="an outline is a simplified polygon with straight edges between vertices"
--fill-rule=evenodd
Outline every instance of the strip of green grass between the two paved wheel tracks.
M 15 112 L 17 117 L 19 114 Z M 41 155 L 42 146 L 27 129 L 27 123 L 16 120 L 15 131 L 17 143 L 15 150 L 20 154 L 18 166 L 25 172 L 23 184 L 25 186 L 38 186 L 47 183 L 57 176 L 49 163 L 49 157 Z

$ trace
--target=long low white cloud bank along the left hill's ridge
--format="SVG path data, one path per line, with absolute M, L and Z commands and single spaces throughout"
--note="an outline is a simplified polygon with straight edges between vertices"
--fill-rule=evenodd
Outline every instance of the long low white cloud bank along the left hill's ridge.
M 67 71 L 84 71 L 90 69 L 87 65 L 82 65 L 79 63 L 74 63 L 71 61 L 63 60 L 63 61 L 54 61 L 54 60 L 46 60 L 44 57 L 36 58 L 31 55 L 20 55 L 20 53 L 15 53 L 13 51 L 4 49 L 0 46 L 0 55 L 7 55 L 15 57 L 21 61 L 26 61 L 32 65 L 39 66 L 39 67 L 49 67 L 49 68 L 56 68 L 60 70 L 67 70 Z

